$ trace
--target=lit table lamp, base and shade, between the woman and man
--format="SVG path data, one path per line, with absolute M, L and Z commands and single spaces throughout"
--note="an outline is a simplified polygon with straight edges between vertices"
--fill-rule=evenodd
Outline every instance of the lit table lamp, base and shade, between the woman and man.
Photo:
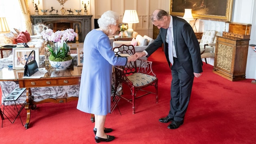
M 139 18 L 136 10 L 125 10 L 123 23 L 128 23 L 128 29 L 126 30 L 128 37 L 132 37 L 133 29 L 132 23 L 139 23 Z

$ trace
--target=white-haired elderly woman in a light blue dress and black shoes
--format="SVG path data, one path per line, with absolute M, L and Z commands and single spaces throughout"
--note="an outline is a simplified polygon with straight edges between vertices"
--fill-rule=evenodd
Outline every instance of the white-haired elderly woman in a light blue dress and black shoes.
M 95 115 L 95 141 L 110 142 L 115 137 L 106 133 L 113 129 L 104 127 L 106 114 L 111 110 L 112 65 L 125 66 L 135 61 L 136 55 L 116 57 L 108 36 L 119 29 L 119 15 L 106 11 L 98 19 L 98 29 L 87 34 L 84 42 L 84 62 L 81 75 L 77 109 Z

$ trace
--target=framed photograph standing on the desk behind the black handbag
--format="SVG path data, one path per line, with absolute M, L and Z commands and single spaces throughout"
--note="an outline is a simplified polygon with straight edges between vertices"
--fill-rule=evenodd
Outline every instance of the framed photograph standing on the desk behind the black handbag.
M 28 55 L 35 50 L 35 55 Z M 39 48 L 13 48 L 13 69 L 24 69 L 27 59 L 36 60 L 39 67 Z

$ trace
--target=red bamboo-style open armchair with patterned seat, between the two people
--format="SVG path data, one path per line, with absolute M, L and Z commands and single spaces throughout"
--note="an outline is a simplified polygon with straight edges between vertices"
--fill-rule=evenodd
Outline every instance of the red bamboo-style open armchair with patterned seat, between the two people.
M 122 44 L 119 47 L 114 47 L 113 51 L 117 55 L 121 55 L 121 53 L 126 53 L 129 55 L 135 54 L 133 45 Z M 132 114 L 135 114 L 135 99 L 141 96 L 152 93 L 156 95 L 156 103 L 158 103 L 158 79 L 152 70 L 152 61 L 143 59 L 139 59 L 139 61 L 139 68 L 137 68 L 136 61 L 129 62 L 126 64 L 126 66 L 115 66 L 115 93 L 119 84 L 125 84 L 130 88 L 132 93 L 131 99 L 127 99 L 123 96 L 120 97 L 132 104 Z M 152 91 L 152 88 L 149 86 L 153 86 L 155 90 Z M 143 92 L 138 96 L 138 91 Z M 116 95 L 114 95 L 114 97 L 115 96 Z

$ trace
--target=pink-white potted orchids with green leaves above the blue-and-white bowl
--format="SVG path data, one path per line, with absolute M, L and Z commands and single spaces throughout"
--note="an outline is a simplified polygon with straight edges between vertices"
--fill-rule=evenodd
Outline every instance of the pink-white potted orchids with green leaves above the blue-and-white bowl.
M 67 42 L 74 40 L 77 36 L 73 29 L 56 32 L 53 32 L 52 29 L 47 29 L 41 32 L 41 34 L 46 40 L 46 45 L 50 51 L 50 61 L 67 61 L 72 59 Z M 63 47 L 58 47 L 58 44 L 61 45 L 61 43 L 63 43 Z

